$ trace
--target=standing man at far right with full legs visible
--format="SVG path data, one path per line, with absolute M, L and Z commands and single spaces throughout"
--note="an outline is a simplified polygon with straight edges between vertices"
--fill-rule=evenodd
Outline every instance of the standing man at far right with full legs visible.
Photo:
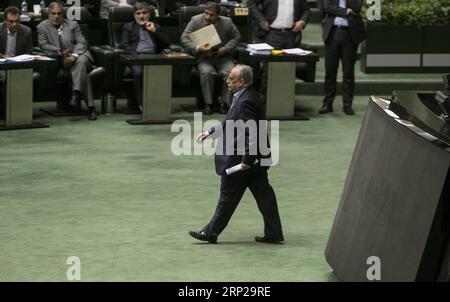
M 361 0 L 324 0 L 322 11 L 325 14 L 322 21 L 325 42 L 325 97 L 319 113 L 333 112 L 337 70 L 339 60 L 342 60 L 343 111 L 347 115 L 353 115 L 356 52 L 359 43 L 366 37 L 360 15 Z

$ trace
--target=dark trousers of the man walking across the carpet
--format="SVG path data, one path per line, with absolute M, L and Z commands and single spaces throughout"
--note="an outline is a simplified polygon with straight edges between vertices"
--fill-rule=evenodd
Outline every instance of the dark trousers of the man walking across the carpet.
M 203 228 L 208 236 L 218 236 L 227 226 L 245 190 L 249 188 L 264 219 L 267 237 L 283 237 L 277 198 L 267 177 L 267 168 L 254 166 L 245 172 L 222 175 L 220 197 L 211 221 Z

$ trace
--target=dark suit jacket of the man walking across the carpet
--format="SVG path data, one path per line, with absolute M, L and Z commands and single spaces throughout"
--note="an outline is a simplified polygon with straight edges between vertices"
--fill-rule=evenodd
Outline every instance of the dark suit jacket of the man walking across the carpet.
M 215 154 L 216 173 L 219 175 L 226 175 L 226 169 L 240 163 L 252 165 L 256 159 L 259 159 L 258 165 L 260 165 L 261 158 L 270 160 L 268 138 L 266 139 L 267 148 L 261 150 L 258 137 L 260 132 L 267 137 L 267 128 L 259 123 L 260 120 L 265 120 L 265 106 L 261 95 L 250 86 L 235 102 L 222 124 L 209 130 L 211 138 L 219 138 Z M 242 121 L 243 123 L 254 121 L 257 127 L 253 129 L 255 131 L 250 131 L 245 125 L 238 127 L 238 131 L 233 129 L 235 132 L 233 139 L 227 140 L 227 130 L 231 130 L 231 128 L 227 129 L 227 121 Z M 264 129 L 260 129 L 260 127 L 264 127 Z M 245 140 L 244 149 L 239 144 L 242 140 Z M 227 154 L 226 150 L 233 150 L 233 153 Z

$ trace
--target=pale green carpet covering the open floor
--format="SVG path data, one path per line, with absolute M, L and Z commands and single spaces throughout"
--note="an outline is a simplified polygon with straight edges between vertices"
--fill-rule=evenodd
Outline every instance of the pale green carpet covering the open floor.
M 213 157 L 172 155 L 170 125 L 36 110 L 50 128 L 0 132 L 0 281 L 67 281 L 69 256 L 82 281 L 335 281 L 324 249 L 367 100 L 354 117 L 340 99 L 319 116 L 320 97 L 302 96 L 311 120 L 280 123 L 269 173 L 280 245 L 254 242 L 263 223 L 249 192 L 219 244 L 187 234 L 211 218 L 220 179 Z

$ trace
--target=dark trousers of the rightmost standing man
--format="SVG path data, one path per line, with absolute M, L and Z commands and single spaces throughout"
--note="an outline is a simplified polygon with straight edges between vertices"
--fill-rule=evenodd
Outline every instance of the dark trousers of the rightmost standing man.
M 344 106 L 353 103 L 355 88 L 355 62 L 358 45 L 354 44 L 348 28 L 333 27 L 325 42 L 325 98 L 324 104 L 333 104 L 336 96 L 336 77 L 342 61 L 342 101 Z

